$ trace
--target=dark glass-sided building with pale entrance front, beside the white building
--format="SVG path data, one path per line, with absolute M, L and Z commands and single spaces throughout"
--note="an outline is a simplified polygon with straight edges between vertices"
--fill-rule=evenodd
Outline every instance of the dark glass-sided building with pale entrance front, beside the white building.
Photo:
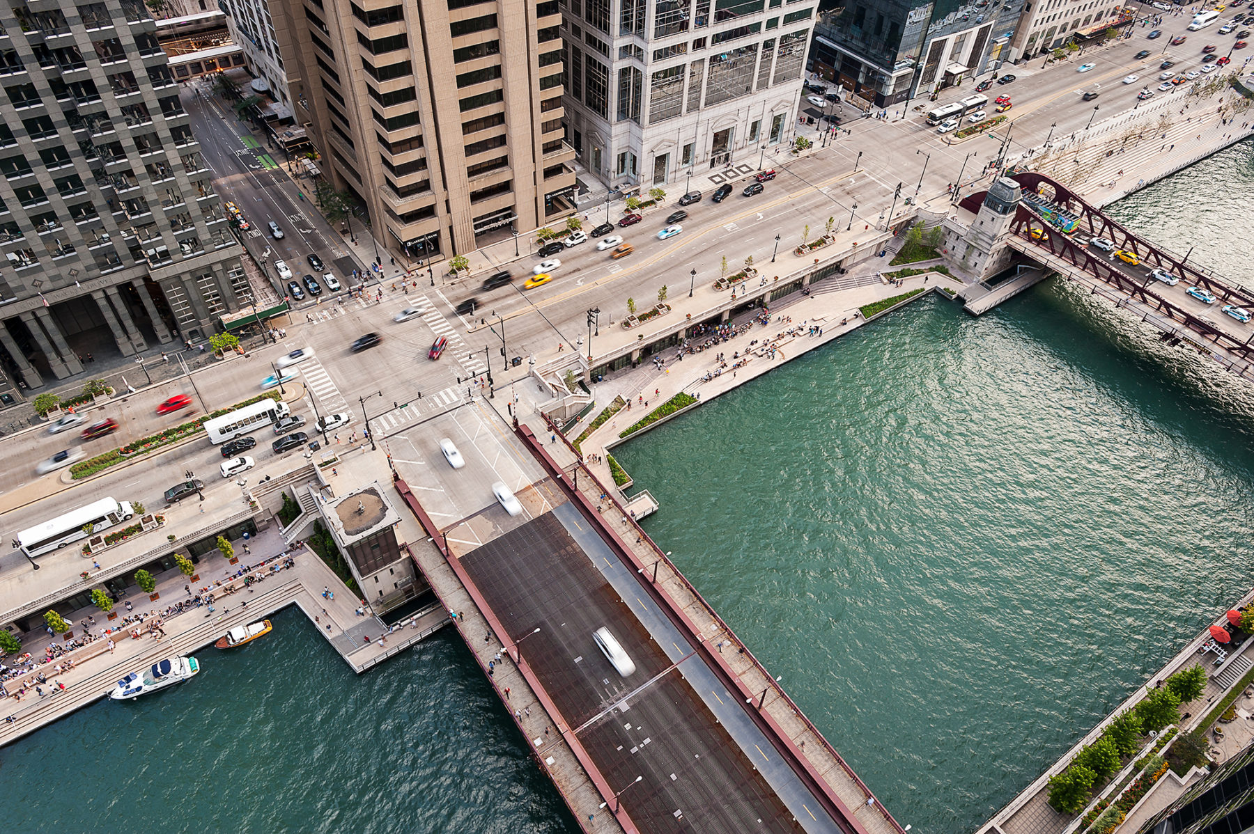
M 845 0 L 815 26 L 811 69 L 865 106 L 927 95 L 1008 60 L 1022 3 Z

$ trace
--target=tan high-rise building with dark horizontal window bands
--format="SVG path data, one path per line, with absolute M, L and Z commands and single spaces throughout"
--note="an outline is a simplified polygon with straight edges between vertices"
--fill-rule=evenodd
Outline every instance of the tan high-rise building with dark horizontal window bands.
M 296 119 L 391 250 L 448 257 L 574 208 L 557 0 L 287 1 Z

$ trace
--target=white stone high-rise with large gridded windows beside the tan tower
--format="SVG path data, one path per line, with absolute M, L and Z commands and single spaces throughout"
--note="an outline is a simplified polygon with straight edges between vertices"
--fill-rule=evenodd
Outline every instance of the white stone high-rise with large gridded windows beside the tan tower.
M 816 0 L 563 0 L 567 135 L 609 185 L 683 183 L 793 133 Z

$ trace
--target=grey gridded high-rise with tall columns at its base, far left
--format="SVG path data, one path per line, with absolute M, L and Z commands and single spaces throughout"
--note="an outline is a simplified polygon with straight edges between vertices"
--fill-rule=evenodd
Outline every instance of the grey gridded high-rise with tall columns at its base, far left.
M 155 28 L 140 0 L 0 6 L 0 362 L 28 387 L 204 338 L 248 292 Z

